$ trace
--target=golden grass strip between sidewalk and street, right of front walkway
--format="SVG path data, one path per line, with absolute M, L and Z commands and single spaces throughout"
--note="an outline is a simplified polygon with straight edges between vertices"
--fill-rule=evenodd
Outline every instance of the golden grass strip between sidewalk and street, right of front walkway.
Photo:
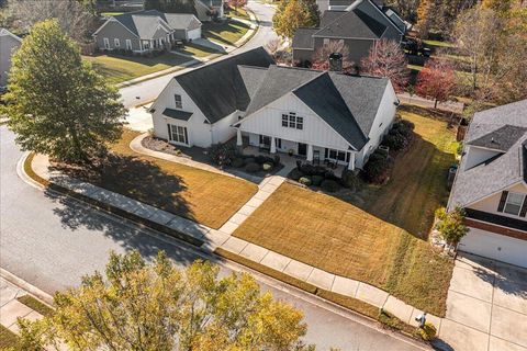
M 262 273 L 265 275 L 268 275 L 270 278 L 273 278 L 282 283 L 292 285 L 294 287 L 298 287 L 306 293 L 316 295 L 321 298 L 324 298 L 328 302 L 332 302 L 336 305 L 339 305 L 344 308 L 354 310 L 365 317 L 368 317 L 372 320 L 379 321 L 383 327 L 386 327 L 392 330 L 397 330 L 401 331 L 408 337 L 416 338 L 415 337 L 415 330 L 416 328 L 402 321 L 397 317 L 393 316 L 392 314 L 380 309 L 373 305 L 370 305 L 363 301 L 360 301 L 355 297 L 350 296 L 345 296 L 338 293 L 334 293 L 321 287 L 317 287 L 311 283 L 301 281 L 300 279 L 296 279 L 294 276 L 291 276 L 289 274 L 285 274 L 283 272 L 277 271 L 272 268 L 269 268 L 267 265 L 264 265 L 261 263 L 255 262 L 250 259 L 247 259 L 243 256 L 239 256 L 237 253 L 227 251 L 222 248 L 216 248 L 214 250 L 214 253 L 217 254 L 218 257 L 231 260 L 233 262 L 236 262 L 238 264 L 245 265 L 251 270 L 255 270 L 259 273 Z

